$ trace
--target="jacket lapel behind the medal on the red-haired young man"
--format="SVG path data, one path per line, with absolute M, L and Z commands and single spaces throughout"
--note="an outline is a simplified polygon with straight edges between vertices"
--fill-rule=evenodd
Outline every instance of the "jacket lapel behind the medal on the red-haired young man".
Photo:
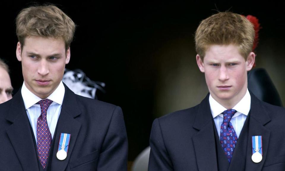
M 262 166 L 267 157 L 267 149 L 269 145 L 270 131 L 265 128 L 265 125 L 270 122 L 270 117 L 267 110 L 261 102 L 251 93 L 251 109 L 249 115 L 249 131 L 248 131 L 248 148 L 246 156 L 246 170 L 262 170 Z M 252 136 L 262 136 L 262 161 L 259 163 L 254 163 L 251 160 L 252 155 Z

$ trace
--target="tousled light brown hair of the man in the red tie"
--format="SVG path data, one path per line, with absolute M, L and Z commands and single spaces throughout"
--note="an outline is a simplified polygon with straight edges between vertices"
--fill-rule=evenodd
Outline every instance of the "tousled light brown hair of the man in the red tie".
M 22 48 L 26 37 L 40 36 L 63 38 L 67 50 L 74 32 L 75 23 L 54 5 L 24 8 L 16 18 L 16 33 Z

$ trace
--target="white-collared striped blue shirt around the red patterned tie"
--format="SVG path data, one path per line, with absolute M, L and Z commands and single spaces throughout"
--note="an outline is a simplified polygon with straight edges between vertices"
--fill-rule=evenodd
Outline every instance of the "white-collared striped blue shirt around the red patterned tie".
M 64 92 L 65 88 L 62 82 L 59 83 L 58 87 L 55 91 L 53 91 L 52 94 L 50 94 L 47 99 L 52 100 L 52 104 L 47 109 L 47 125 L 50 129 L 51 137 L 53 138 L 53 134 L 56 129 L 56 124 L 58 121 L 58 117 L 60 115 L 61 111 L 61 105 L 64 98 Z M 39 116 L 41 115 L 41 107 L 40 105 L 36 104 L 41 98 L 33 94 L 23 83 L 22 89 L 21 89 L 22 97 L 24 100 L 24 105 L 26 108 L 26 112 L 31 124 L 31 127 L 34 132 L 34 136 L 37 143 L 37 120 Z

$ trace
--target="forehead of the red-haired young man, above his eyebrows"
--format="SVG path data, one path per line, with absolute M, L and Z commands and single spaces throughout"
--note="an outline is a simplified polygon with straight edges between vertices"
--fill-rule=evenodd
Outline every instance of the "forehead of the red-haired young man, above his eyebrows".
M 228 61 L 241 60 L 243 56 L 240 54 L 239 48 L 236 45 L 210 45 L 205 52 L 204 61 Z

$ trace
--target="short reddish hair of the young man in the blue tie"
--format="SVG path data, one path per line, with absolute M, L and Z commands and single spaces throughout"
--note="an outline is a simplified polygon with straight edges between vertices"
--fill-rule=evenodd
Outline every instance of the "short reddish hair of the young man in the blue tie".
M 237 45 L 246 59 L 252 51 L 254 26 L 244 16 L 219 12 L 202 20 L 195 32 L 196 52 L 203 60 L 210 45 Z

